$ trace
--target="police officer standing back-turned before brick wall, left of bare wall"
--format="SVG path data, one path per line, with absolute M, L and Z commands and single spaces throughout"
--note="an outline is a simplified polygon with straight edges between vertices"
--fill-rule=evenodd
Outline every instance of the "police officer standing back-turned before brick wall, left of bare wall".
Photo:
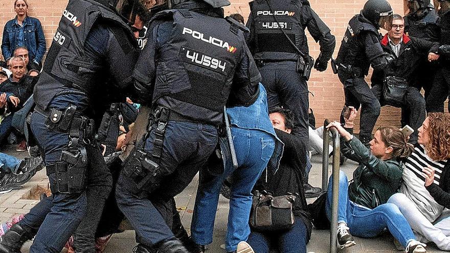
M 319 41 L 320 55 L 314 64 L 325 71 L 335 38 L 311 9 L 307 0 L 255 0 L 250 2 L 247 44 L 258 64 L 267 90 L 269 108 L 283 106 L 294 112 L 298 134 L 308 143 L 308 86 L 313 66 L 309 56 L 305 28 Z

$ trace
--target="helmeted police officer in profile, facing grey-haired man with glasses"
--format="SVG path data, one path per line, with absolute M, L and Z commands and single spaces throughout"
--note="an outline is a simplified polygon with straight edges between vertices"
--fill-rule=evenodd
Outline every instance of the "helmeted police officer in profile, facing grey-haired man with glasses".
M 380 104 L 364 77 L 371 64 L 374 69 L 383 70 L 394 60 L 393 56 L 384 53 L 378 35 L 379 28 L 391 30 L 392 15 L 386 0 L 367 1 L 361 13 L 350 19 L 335 61 L 339 80 L 344 84 L 345 105 L 358 110 L 362 105 L 359 140 L 364 144 L 371 140 L 380 113 Z

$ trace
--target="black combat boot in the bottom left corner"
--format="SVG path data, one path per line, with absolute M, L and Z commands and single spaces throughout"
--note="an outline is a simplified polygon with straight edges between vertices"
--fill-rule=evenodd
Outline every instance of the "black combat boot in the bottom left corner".
M 14 224 L 0 241 L 0 253 L 20 253 L 20 247 L 33 236 L 19 224 Z

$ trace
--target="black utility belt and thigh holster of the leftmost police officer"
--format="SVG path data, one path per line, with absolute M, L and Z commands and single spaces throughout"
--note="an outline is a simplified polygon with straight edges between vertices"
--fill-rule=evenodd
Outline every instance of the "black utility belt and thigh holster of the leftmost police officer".
M 50 109 L 46 126 L 69 133 L 69 145 L 62 150 L 60 161 L 47 166 L 47 175 L 55 174 L 56 185 L 51 185 L 52 193 L 79 193 L 86 186 L 88 163 L 86 145 L 94 140 L 94 120 L 77 116 L 77 107 L 70 105 L 64 111 Z M 46 114 L 36 107 L 37 112 Z M 48 112 L 48 111 L 47 111 Z

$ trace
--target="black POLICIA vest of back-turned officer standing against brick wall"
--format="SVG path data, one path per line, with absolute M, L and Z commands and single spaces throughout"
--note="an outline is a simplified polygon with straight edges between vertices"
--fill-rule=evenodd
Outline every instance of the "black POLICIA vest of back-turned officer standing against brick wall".
M 267 1 L 271 1 L 269 8 Z M 308 40 L 301 23 L 302 3 L 298 0 L 273 1 L 256 0 L 250 2 L 254 17 L 256 60 L 296 60 L 297 50 L 280 30 L 294 42 L 300 51 L 308 55 Z M 275 17 L 275 18 L 274 18 Z

